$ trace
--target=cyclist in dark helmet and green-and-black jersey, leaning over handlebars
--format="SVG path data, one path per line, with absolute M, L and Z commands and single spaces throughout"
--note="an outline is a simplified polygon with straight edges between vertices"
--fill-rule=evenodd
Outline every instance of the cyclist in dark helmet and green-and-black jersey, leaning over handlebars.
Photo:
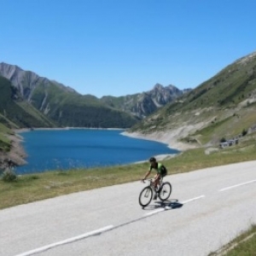
M 166 176 L 167 169 L 166 169 L 166 166 L 157 162 L 157 160 L 154 157 L 150 157 L 149 163 L 150 163 L 149 170 L 146 173 L 145 177 L 143 178 L 143 182 L 144 182 L 144 179 L 146 179 L 148 175 L 151 173 L 152 169 L 154 169 L 156 171 L 156 174 L 154 176 L 154 189 L 155 189 L 155 192 L 157 192 L 157 186 L 160 185 L 160 180 Z M 157 198 L 157 195 L 155 194 L 154 199 L 156 198 Z

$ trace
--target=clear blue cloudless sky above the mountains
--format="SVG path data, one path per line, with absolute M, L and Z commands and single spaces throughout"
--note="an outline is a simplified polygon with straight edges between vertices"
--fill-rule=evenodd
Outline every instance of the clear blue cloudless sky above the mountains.
M 81 94 L 195 88 L 256 50 L 255 0 L 0 0 L 0 62 Z

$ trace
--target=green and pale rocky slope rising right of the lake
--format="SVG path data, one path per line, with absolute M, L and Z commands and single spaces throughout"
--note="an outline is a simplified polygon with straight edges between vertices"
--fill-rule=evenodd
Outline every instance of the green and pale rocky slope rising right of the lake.
M 195 146 L 217 145 L 256 125 L 256 52 L 149 115 L 130 132 Z

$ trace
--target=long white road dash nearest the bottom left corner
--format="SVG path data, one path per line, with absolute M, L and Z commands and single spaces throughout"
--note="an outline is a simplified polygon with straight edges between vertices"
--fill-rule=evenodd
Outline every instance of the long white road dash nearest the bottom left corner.
M 42 253 L 44 251 L 49 250 L 50 248 L 58 247 L 58 246 L 61 246 L 61 245 L 67 244 L 67 243 L 71 243 L 73 241 L 79 241 L 79 240 L 84 239 L 84 238 L 89 237 L 89 236 L 100 235 L 102 232 L 106 232 L 108 230 L 113 230 L 113 225 L 108 225 L 108 226 L 106 226 L 102 229 L 93 230 L 93 231 L 90 231 L 88 233 L 84 233 L 80 236 L 74 236 L 74 237 L 68 238 L 68 239 L 63 240 L 63 241 L 58 241 L 58 242 L 55 242 L 55 243 L 51 243 L 51 244 L 46 245 L 44 247 L 39 247 L 37 249 L 28 251 L 26 253 L 17 254 L 15 256 L 29 256 L 29 255 L 33 255 L 33 254 L 36 254 L 36 253 Z

